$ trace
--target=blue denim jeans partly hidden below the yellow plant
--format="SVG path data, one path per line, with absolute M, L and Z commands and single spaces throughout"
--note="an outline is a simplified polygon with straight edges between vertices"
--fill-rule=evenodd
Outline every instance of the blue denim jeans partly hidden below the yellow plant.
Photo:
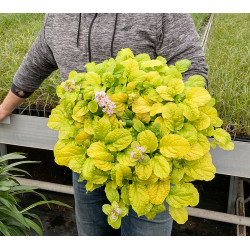
M 75 213 L 78 235 L 80 236 L 170 236 L 173 219 L 168 211 L 159 213 L 153 220 L 146 216 L 138 217 L 131 208 L 122 218 L 121 228 L 113 229 L 107 222 L 107 215 L 102 212 L 103 204 L 110 204 L 104 187 L 86 194 L 86 181 L 78 182 L 79 174 L 73 172 Z

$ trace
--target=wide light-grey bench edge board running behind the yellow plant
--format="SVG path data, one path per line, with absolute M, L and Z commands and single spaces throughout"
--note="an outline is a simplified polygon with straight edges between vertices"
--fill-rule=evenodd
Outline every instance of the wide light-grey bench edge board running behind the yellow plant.
M 10 124 L 0 123 L 0 143 L 53 150 L 58 131 L 47 127 L 48 118 L 11 115 Z M 217 173 L 250 178 L 250 143 L 234 141 L 235 149 L 211 148 Z

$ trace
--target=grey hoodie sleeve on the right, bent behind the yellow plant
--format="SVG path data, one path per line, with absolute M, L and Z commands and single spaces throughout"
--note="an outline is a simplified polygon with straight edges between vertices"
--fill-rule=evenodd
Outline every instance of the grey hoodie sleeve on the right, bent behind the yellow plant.
M 208 86 L 208 65 L 190 14 L 162 14 L 157 23 L 157 38 L 156 53 L 165 57 L 169 65 L 181 59 L 191 61 L 183 73 L 184 81 L 192 75 L 202 75 Z

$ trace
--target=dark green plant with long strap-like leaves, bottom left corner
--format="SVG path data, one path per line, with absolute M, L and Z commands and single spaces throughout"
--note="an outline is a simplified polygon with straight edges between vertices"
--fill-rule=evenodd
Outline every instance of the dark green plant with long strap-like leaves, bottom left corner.
M 42 235 L 42 222 L 40 218 L 29 212 L 35 206 L 50 203 L 70 207 L 59 201 L 48 201 L 46 197 L 38 193 L 36 186 L 23 186 L 15 179 L 19 174 L 12 174 L 12 171 L 29 173 L 23 169 L 16 168 L 20 164 L 35 163 L 34 161 L 17 161 L 8 164 L 9 160 L 22 160 L 26 157 L 19 153 L 11 153 L 0 157 L 0 236 L 26 236 L 31 233 L 31 229 Z M 39 195 L 43 201 L 31 204 L 27 208 L 21 208 L 20 195 L 24 193 L 35 193 Z M 36 221 L 36 222 L 35 222 Z M 40 224 L 40 225 L 39 225 Z

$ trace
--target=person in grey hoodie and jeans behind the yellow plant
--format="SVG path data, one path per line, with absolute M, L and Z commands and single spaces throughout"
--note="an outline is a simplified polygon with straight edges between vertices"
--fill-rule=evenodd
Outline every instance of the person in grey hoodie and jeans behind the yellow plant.
M 183 81 L 201 75 L 208 83 L 208 65 L 189 14 L 47 14 L 35 42 L 16 72 L 11 90 L 0 105 L 0 120 L 28 98 L 44 79 L 59 69 L 62 81 L 69 72 L 84 72 L 87 62 L 100 63 L 115 57 L 122 48 L 134 55 L 162 56 L 168 65 L 188 59 L 191 66 Z M 79 235 L 171 235 L 173 220 L 166 210 L 153 220 L 138 217 L 130 209 L 121 228 L 111 228 L 102 212 L 107 203 L 104 187 L 86 194 L 86 182 L 73 172 L 76 222 Z

